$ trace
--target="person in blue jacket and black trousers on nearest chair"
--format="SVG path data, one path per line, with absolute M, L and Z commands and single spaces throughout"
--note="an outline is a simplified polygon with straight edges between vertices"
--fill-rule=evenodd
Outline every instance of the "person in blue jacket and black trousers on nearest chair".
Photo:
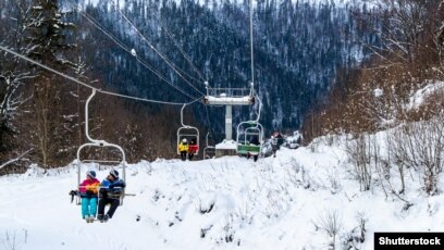
M 110 174 L 100 185 L 100 200 L 97 220 L 100 222 L 108 222 L 108 220 L 112 218 L 112 215 L 114 215 L 114 212 L 119 207 L 120 197 L 123 195 L 123 189 L 125 187 L 125 182 L 119 178 L 119 172 L 111 170 Z M 104 205 L 107 204 L 111 205 L 104 214 Z

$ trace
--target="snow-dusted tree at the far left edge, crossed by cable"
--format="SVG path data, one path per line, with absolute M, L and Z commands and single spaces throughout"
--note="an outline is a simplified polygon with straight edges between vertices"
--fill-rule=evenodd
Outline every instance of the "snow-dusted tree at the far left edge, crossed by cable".
M 32 25 L 30 1 L 8 0 L 3 3 L 10 11 L 0 16 L 0 43 L 26 54 L 32 47 L 25 41 L 25 34 Z M 9 53 L 0 53 L 0 153 L 11 150 L 12 141 L 9 138 L 16 132 L 13 121 L 21 114 L 20 107 L 28 100 L 20 88 L 34 76 L 23 61 Z

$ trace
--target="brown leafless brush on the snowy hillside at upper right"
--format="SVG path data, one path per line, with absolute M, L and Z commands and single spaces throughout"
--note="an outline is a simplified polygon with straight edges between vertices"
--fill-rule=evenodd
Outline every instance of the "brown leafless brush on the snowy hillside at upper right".
M 444 4 L 442 1 L 382 1 L 380 41 L 359 67 L 341 68 L 329 97 L 307 116 L 306 136 L 360 135 L 444 116 Z M 419 107 L 412 96 L 424 88 Z M 440 90 L 441 89 L 441 90 Z M 423 141 L 428 143 L 430 141 Z

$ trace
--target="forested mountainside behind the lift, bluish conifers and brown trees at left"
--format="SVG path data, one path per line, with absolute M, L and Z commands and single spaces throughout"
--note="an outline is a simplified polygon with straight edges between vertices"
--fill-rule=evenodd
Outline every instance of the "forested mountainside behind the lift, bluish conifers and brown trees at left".
M 425 11 L 433 10 L 432 1 L 424 4 Z M 213 87 L 243 87 L 251 80 L 247 2 L 128 0 L 92 5 L 73 0 L 1 0 L 0 12 L 2 46 L 100 89 L 188 102 L 205 92 L 203 79 Z M 325 132 L 329 123 L 317 120 L 313 126 L 314 118 L 325 113 L 324 107 L 338 107 L 333 97 L 344 99 L 344 93 L 332 92 L 351 91 L 341 86 L 354 83 L 348 79 L 359 75 L 360 66 L 375 61 L 371 55 L 384 49 L 381 39 L 390 30 L 392 14 L 366 4 L 258 1 L 255 84 L 267 136 L 297 129 L 303 123 L 306 132 Z M 86 140 L 84 104 L 90 90 L 3 52 L 0 82 L 1 159 L 25 153 L 11 167 L 71 162 Z M 121 145 L 130 162 L 175 155 L 180 107 L 103 95 L 91 107 L 91 135 Z M 234 109 L 234 124 L 254 117 L 255 109 Z M 220 140 L 223 112 L 196 104 L 186 110 L 186 123 Z

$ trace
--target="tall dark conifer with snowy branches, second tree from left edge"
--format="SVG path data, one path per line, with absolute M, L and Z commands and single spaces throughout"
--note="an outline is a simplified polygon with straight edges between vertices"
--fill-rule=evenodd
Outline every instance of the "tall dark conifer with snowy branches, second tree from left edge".
M 67 52 L 75 45 L 67 40 L 73 30 L 72 23 L 64 22 L 65 13 L 59 10 L 57 0 L 35 0 L 30 11 L 27 42 L 32 45 L 27 55 L 59 71 L 75 67 L 67 60 Z M 50 155 L 54 159 L 61 151 L 60 140 L 66 136 L 62 99 L 66 89 L 53 74 L 35 68 L 38 77 L 33 88 L 33 113 L 36 126 L 36 148 L 44 166 L 48 166 Z M 66 87 L 65 87 L 66 88 Z

